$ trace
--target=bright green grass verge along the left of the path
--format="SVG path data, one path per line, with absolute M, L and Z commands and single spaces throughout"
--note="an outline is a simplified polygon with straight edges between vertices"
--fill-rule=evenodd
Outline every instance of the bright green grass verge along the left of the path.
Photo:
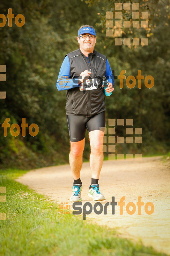
M 14 180 L 25 172 L 0 172 L 0 187 L 6 187 L 6 202 L 0 203 L 0 212 L 6 213 L 0 221 L 1 256 L 166 255 L 80 216 L 61 214 L 58 204 Z

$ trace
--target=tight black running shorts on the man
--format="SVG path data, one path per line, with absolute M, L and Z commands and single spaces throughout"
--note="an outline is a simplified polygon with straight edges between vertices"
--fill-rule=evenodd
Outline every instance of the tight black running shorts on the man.
M 70 134 L 70 141 L 76 142 L 85 138 L 86 129 L 88 132 L 100 130 L 106 126 L 105 111 L 92 117 L 67 115 L 67 125 Z

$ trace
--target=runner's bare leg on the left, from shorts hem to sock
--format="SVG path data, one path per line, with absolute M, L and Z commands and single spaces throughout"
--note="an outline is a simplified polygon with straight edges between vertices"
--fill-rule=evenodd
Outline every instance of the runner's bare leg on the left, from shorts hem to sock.
M 83 164 L 83 150 L 85 147 L 85 139 L 72 142 L 70 141 L 70 167 L 74 180 L 80 178 L 80 170 Z

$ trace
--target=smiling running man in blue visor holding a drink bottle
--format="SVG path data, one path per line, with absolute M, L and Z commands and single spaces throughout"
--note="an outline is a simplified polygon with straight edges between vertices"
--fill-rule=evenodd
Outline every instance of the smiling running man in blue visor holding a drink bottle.
M 85 147 L 85 132 L 89 132 L 90 139 L 90 168 L 92 171 L 89 196 L 94 201 L 105 200 L 99 190 L 99 176 L 103 164 L 103 153 L 100 152 L 101 137 L 104 132 L 100 127 L 105 127 L 105 92 L 101 83 L 98 85 L 87 84 L 96 76 L 112 76 L 109 62 L 105 55 L 96 52 L 95 29 L 83 25 L 78 30 L 79 49 L 65 55 L 60 68 L 57 89 L 67 90 L 66 115 L 70 134 L 70 167 L 73 175 L 71 202 L 82 201 L 82 182 L 80 170 L 83 164 L 83 150 Z M 89 77 L 90 76 L 90 77 Z M 89 79 L 88 79 L 89 78 Z M 92 78 L 92 79 L 91 79 Z M 94 81 L 94 80 L 93 80 Z M 113 92 L 114 79 L 108 79 L 107 92 Z

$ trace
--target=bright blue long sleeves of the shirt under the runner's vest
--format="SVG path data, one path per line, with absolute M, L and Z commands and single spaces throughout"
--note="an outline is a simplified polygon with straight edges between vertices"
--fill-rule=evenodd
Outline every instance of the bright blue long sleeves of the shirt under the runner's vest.
M 87 57 L 87 60 L 88 60 L 88 57 Z M 69 75 L 70 75 L 70 61 L 69 61 L 69 57 L 66 56 L 61 65 L 57 83 L 56 83 L 57 89 L 59 91 L 69 90 L 71 88 L 75 88 L 80 85 L 80 84 L 78 84 L 78 78 L 69 79 Z M 114 85 L 114 78 L 112 76 L 112 71 L 111 71 L 110 64 L 109 64 L 108 60 L 106 60 L 105 76 L 107 77 L 109 83 L 112 83 Z M 64 82 L 64 86 L 63 86 L 62 82 Z

